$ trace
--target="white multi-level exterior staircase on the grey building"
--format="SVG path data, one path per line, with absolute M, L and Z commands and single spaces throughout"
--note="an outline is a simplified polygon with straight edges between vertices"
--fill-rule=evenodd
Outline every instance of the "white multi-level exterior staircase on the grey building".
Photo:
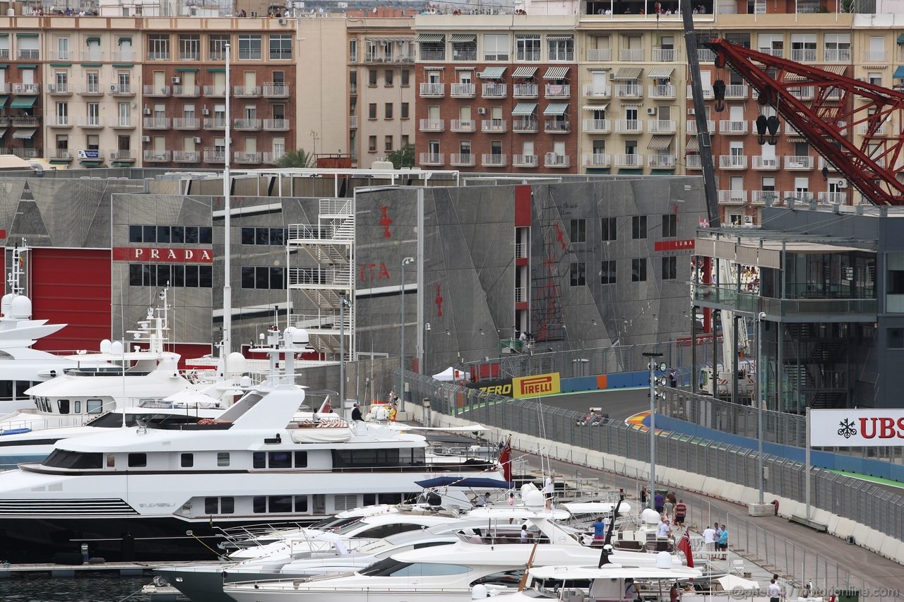
M 292 266 L 293 259 L 300 262 L 302 251 L 313 259 L 313 266 Z M 353 362 L 353 199 L 321 199 L 316 224 L 290 224 L 286 256 L 287 301 L 293 308 L 290 324 L 307 330 L 311 346 L 322 359 L 341 361 L 344 351 L 344 360 Z M 299 313 L 296 308 L 301 308 Z

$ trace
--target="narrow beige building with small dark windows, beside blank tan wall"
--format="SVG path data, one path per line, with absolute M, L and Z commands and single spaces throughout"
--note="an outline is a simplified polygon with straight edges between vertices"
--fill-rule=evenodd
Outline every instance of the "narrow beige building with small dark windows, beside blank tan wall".
M 369 167 L 415 141 L 414 20 L 349 19 L 347 32 L 348 147 Z

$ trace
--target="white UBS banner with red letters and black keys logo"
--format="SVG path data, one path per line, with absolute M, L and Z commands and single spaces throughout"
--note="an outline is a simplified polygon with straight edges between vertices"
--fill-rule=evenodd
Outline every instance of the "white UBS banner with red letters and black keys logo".
M 810 445 L 904 446 L 904 409 L 811 409 Z

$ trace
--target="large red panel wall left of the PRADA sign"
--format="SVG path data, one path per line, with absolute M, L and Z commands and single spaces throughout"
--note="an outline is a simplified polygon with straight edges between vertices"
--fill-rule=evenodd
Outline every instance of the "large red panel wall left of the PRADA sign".
M 110 251 L 108 249 L 32 249 L 34 319 L 67 324 L 35 343 L 44 351 L 97 351 L 110 336 Z

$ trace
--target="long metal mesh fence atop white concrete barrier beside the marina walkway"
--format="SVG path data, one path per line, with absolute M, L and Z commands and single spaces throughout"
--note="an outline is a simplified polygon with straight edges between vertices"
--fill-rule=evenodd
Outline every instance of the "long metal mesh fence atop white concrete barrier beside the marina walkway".
M 541 401 L 511 400 L 413 372 L 406 372 L 405 378 L 409 382 L 411 400 L 428 399 L 433 411 L 569 446 L 650 461 L 650 438 L 645 430 L 615 422 L 581 427 L 577 423 L 583 414 L 546 406 Z M 757 488 L 757 459 L 754 450 L 700 437 L 679 433 L 656 437 L 656 466 L 706 475 L 728 483 Z M 805 502 L 803 464 L 771 455 L 764 456 L 763 464 L 768 474 L 767 492 Z M 857 522 L 876 531 L 904 540 L 904 498 L 900 495 L 823 469 L 812 469 L 809 477 L 814 508 L 855 517 Z

